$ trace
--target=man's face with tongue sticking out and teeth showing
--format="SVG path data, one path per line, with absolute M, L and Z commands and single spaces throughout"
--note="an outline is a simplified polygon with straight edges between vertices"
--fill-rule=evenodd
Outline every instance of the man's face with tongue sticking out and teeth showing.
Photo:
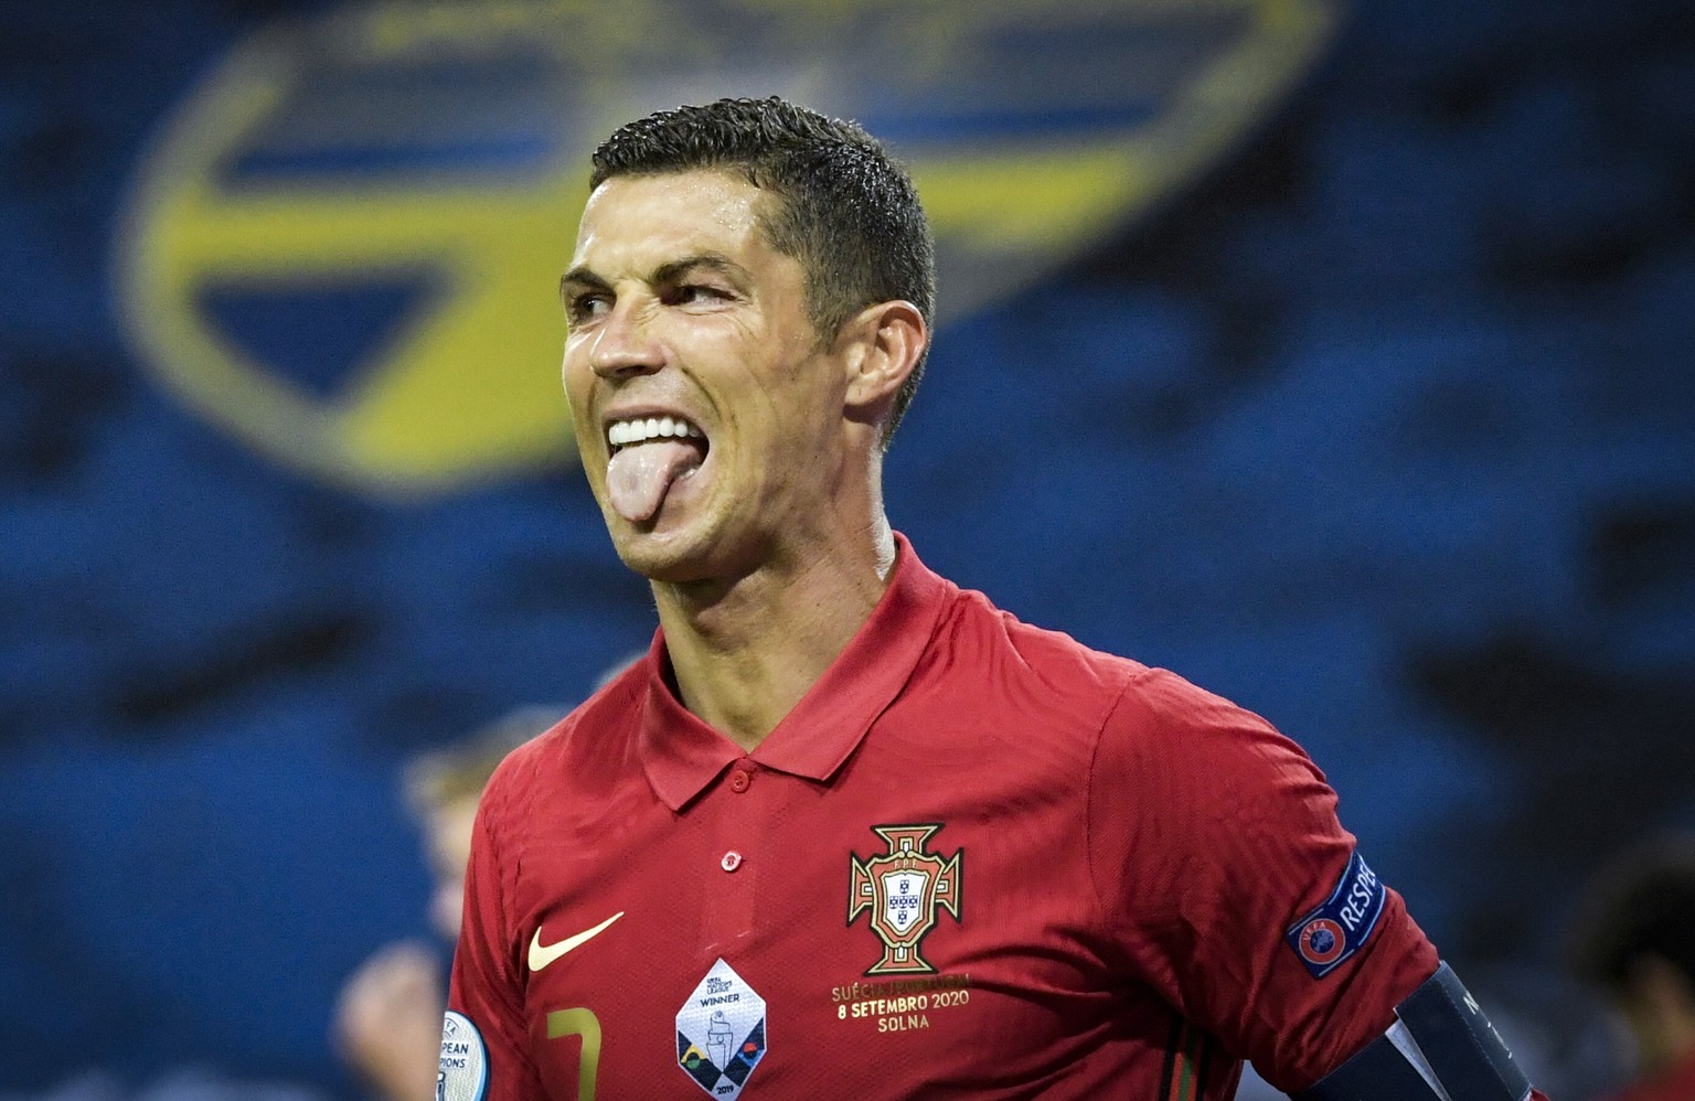
M 846 371 L 759 229 L 773 202 L 720 171 L 609 180 L 561 281 L 583 471 L 656 581 L 751 573 L 817 535 L 841 483 Z

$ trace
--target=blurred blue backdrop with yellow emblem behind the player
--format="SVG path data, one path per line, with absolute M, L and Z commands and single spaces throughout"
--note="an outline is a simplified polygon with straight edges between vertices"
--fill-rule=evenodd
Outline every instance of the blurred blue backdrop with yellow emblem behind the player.
M 932 202 L 920 556 L 1271 718 L 1556 982 L 1695 827 L 1695 10 L 981 7 L 0 3 L 0 1089 L 358 1096 L 398 769 L 651 635 L 551 279 L 592 142 L 731 91 Z

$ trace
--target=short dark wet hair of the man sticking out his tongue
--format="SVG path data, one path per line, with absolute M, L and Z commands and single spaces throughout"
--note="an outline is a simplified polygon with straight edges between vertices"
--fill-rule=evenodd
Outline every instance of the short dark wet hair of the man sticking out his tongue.
M 807 312 L 822 340 L 878 302 L 910 302 L 932 324 L 936 244 L 917 188 L 858 122 L 778 97 L 661 110 L 600 142 L 588 186 L 712 168 L 778 196 L 778 212 L 761 220 L 761 230 L 805 269 Z M 925 357 L 895 395 L 885 442 L 912 403 Z

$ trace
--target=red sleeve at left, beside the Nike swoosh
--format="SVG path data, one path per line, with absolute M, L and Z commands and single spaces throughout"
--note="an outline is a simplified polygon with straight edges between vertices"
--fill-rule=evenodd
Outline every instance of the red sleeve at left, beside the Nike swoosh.
M 524 998 L 505 906 L 510 886 L 495 830 L 498 779 L 500 772 L 476 811 L 447 1008 L 463 1013 L 481 1035 L 488 1052 L 486 1101 L 539 1101 L 546 1093 L 525 1052 Z

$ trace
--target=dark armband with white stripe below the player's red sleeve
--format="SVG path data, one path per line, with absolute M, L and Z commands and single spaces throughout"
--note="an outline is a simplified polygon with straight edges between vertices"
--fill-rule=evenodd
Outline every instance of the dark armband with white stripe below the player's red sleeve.
M 1442 964 L 1363 1052 L 1295 1101 L 1524 1101 L 1531 1081 Z

